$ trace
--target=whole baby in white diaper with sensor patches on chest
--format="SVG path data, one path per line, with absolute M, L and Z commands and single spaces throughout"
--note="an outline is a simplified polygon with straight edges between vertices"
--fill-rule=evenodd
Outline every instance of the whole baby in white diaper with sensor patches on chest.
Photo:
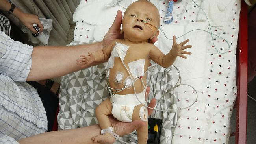
M 173 37 L 173 46 L 165 55 L 156 46 L 148 43 L 150 39 L 157 37 L 160 25 L 158 9 L 147 0 L 139 0 L 132 3 L 124 12 L 122 19 L 122 30 L 124 39 L 116 39 L 106 48 L 96 52 L 89 52 L 87 56 L 81 55 L 77 60 L 82 68 L 91 63 L 102 63 L 108 61 L 106 68 L 106 83 L 111 90 L 110 98 L 104 100 L 96 108 L 101 135 L 93 137 L 94 142 L 114 143 L 119 138 L 114 133 L 108 115 L 113 114 L 117 120 L 132 122 L 143 120 L 147 124 L 147 107 L 145 100 L 145 85 L 147 74 L 144 74 L 150 66 L 150 60 L 167 68 L 176 60 L 177 56 L 187 58 L 183 54 L 191 54 L 184 49 L 191 48 L 186 45 L 189 40 L 180 44 Z M 135 81 L 135 79 L 139 80 Z M 134 86 L 133 86 L 134 83 Z M 134 91 L 135 90 L 135 91 Z M 139 101 L 136 98 L 139 99 Z M 148 125 L 136 129 L 138 143 L 146 144 L 148 139 Z

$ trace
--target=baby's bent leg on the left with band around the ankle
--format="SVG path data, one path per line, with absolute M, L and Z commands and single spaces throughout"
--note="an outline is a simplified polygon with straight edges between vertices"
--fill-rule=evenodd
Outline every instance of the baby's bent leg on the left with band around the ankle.
M 111 122 L 108 118 L 108 115 L 111 114 L 111 111 L 112 111 L 112 104 L 109 98 L 107 98 L 102 103 L 100 103 L 100 105 L 98 105 L 98 107 L 96 108 L 95 113 L 101 129 L 112 127 Z M 94 142 L 99 142 L 104 144 L 106 143 L 113 144 L 115 142 L 115 138 L 110 133 L 105 133 L 103 135 L 92 137 L 92 140 Z

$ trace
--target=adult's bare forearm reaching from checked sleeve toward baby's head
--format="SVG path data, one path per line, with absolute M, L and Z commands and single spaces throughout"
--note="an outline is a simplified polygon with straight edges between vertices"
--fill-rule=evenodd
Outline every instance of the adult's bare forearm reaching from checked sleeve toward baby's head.
M 38 46 L 32 52 L 32 66 L 27 81 L 56 78 L 76 72 L 82 68 L 76 65 L 80 55 L 87 55 L 102 48 L 101 43 L 80 46 Z M 87 65 L 86 68 L 95 65 Z

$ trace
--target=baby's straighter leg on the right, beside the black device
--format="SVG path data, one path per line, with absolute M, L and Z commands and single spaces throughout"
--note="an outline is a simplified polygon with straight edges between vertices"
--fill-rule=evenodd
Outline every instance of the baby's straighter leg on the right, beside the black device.
M 132 121 L 141 120 L 141 118 L 139 116 L 139 109 L 142 106 L 143 105 L 141 104 L 141 105 L 137 105 L 136 107 L 134 107 L 134 112 L 132 114 Z M 146 120 L 147 120 L 147 116 L 146 116 Z M 142 126 L 142 127 L 139 127 L 138 129 L 136 129 L 137 135 L 138 135 L 138 144 L 147 144 L 147 141 L 148 141 L 148 121 L 146 121 L 146 122 L 147 122 L 147 126 Z

